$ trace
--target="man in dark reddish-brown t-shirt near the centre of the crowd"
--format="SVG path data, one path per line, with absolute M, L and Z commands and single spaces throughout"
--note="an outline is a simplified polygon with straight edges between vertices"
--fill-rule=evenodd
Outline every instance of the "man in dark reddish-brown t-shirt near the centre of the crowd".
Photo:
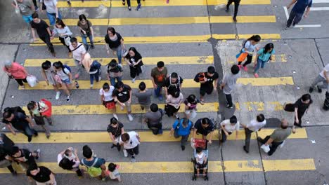
M 155 92 L 155 96 L 159 98 L 160 101 L 163 100 L 161 95 L 162 86 L 168 78 L 168 69 L 164 67 L 164 62 L 159 61 L 157 62 L 157 67 L 153 68 L 151 71 L 151 81 L 153 83 L 153 88 Z

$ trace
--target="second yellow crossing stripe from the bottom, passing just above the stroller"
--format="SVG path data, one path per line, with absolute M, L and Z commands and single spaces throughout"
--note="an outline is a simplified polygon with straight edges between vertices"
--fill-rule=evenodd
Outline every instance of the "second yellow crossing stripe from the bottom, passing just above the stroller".
M 264 128 L 257 132 L 259 137 L 271 135 L 274 129 Z M 170 137 L 169 131 L 164 131 L 162 135 L 153 135 L 150 131 L 138 132 L 142 142 L 179 142 L 180 138 Z M 27 137 L 21 133 L 13 135 L 6 134 L 12 138 L 15 143 L 28 143 Z M 88 137 L 86 137 L 88 136 Z M 192 135 L 188 138 L 191 141 Z M 202 138 L 201 135 L 196 135 L 197 138 Z M 238 140 L 245 139 L 245 130 L 241 129 L 238 134 Z M 257 139 L 255 132 L 252 132 L 251 139 Z M 297 128 L 296 133 L 288 137 L 288 139 L 307 139 L 307 131 L 305 128 Z M 214 130 L 214 141 L 218 141 L 218 130 Z M 227 140 L 236 140 L 236 134 L 228 135 Z M 51 132 L 51 137 L 46 138 L 44 133 L 40 133 L 38 137 L 33 137 L 32 143 L 110 143 L 112 142 L 108 132 Z

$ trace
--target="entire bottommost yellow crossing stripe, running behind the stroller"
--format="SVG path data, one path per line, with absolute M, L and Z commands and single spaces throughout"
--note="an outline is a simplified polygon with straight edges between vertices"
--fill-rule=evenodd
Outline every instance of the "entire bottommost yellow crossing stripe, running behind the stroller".
M 138 157 L 137 157 L 138 158 Z M 120 165 L 122 174 L 142 174 L 142 173 L 191 173 L 193 163 L 191 161 L 148 161 L 148 162 L 112 162 Z M 263 165 L 262 165 L 263 163 Z M 24 173 L 16 164 L 18 173 Z M 75 173 L 63 170 L 58 163 L 38 163 L 39 166 L 48 167 L 55 174 Z M 224 166 L 223 166 L 224 165 Z M 105 163 L 108 166 L 108 163 Z M 224 160 L 208 162 L 208 172 L 278 172 L 297 170 L 316 170 L 314 159 L 285 159 L 285 160 Z M 84 167 L 83 167 L 84 168 Z M 0 168 L 0 174 L 10 173 L 6 168 Z

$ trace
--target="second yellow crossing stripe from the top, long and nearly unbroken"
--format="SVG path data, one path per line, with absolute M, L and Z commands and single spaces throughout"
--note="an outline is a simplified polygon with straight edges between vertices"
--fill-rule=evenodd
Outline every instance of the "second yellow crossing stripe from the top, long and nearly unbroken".
M 111 18 L 109 19 L 88 19 L 93 26 L 121 25 L 185 25 L 202 23 L 231 23 L 232 16 L 210 16 L 210 17 L 170 17 L 170 18 Z M 45 20 L 49 24 L 49 20 Z M 64 19 L 65 25 L 75 26 L 78 19 Z M 276 22 L 275 15 L 239 16 L 238 23 L 250 22 Z

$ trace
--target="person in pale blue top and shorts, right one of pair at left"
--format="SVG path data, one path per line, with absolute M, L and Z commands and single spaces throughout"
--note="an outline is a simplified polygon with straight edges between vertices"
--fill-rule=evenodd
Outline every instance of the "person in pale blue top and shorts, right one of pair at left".
M 63 88 L 64 93 L 67 95 L 66 101 L 70 102 L 70 90 L 72 90 L 72 73 L 67 65 L 63 65 L 62 62 L 54 62 L 53 67 L 56 71 L 56 76 L 58 76 L 58 84 Z M 76 81 L 77 83 L 77 81 Z

